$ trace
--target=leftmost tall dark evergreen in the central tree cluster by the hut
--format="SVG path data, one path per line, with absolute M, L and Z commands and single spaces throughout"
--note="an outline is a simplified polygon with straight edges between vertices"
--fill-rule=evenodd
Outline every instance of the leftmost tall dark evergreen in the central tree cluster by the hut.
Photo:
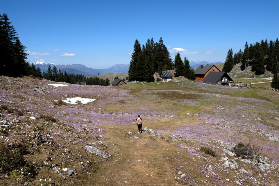
M 138 74 L 137 71 L 140 69 L 137 69 L 139 67 L 138 63 L 140 63 L 142 57 L 142 49 L 140 47 L 140 42 L 136 39 L 134 44 L 134 51 L 132 53 L 132 60 L 130 61 L 130 67 L 128 69 L 128 81 L 137 81 Z

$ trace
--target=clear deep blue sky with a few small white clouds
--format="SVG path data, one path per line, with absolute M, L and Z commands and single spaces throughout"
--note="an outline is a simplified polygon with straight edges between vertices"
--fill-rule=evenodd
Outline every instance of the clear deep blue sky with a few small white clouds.
M 28 61 L 108 68 L 129 64 L 135 40 L 162 36 L 174 60 L 224 62 L 244 44 L 279 35 L 279 1 L 3 1 Z

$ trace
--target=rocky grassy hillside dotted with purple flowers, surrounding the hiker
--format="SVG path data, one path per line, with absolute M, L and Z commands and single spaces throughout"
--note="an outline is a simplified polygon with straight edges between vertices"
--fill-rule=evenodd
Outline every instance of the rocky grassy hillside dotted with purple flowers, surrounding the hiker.
M 0 185 L 279 184 L 277 91 L 0 76 L 0 92 Z

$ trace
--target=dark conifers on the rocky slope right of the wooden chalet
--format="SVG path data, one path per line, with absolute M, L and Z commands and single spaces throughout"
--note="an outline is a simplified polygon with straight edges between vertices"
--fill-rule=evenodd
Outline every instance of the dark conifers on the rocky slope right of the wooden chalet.
M 222 71 L 230 72 L 234 65 L 241 63 L 242 70 L 245 70 L 247 66 L 251 66 L 251 70 L 256 75 L 264 74 L 265 70 L 271 71 L 273 80 L 271 87 L 279 88 L 278 79 L 278 64 L 279 60 L 279 41 L 278 38 L 274 40 L 267 39 L 262 40 L 260 43 L 249 44 L 246 42 L 244 45 L 244 51 L 241 49 L 232 56 L 232 49 L 228 50 L 225 64 Z

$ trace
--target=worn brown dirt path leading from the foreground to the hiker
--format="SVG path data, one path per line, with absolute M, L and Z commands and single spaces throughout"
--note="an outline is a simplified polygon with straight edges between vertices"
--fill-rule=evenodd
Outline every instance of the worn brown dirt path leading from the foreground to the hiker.
M 107 129 L 114 143 L 114 157 L 101 163 L 92 176 L 92 185 L 177 185 L 175 171 L 168 159 L 177 148 L 166 140 L 150 138 L 147 133 L 135 133 L 135 126 Z M 128 135 L 128 132 L 133 135 Z M 140 137 L 135 139 L 134 136 Z

